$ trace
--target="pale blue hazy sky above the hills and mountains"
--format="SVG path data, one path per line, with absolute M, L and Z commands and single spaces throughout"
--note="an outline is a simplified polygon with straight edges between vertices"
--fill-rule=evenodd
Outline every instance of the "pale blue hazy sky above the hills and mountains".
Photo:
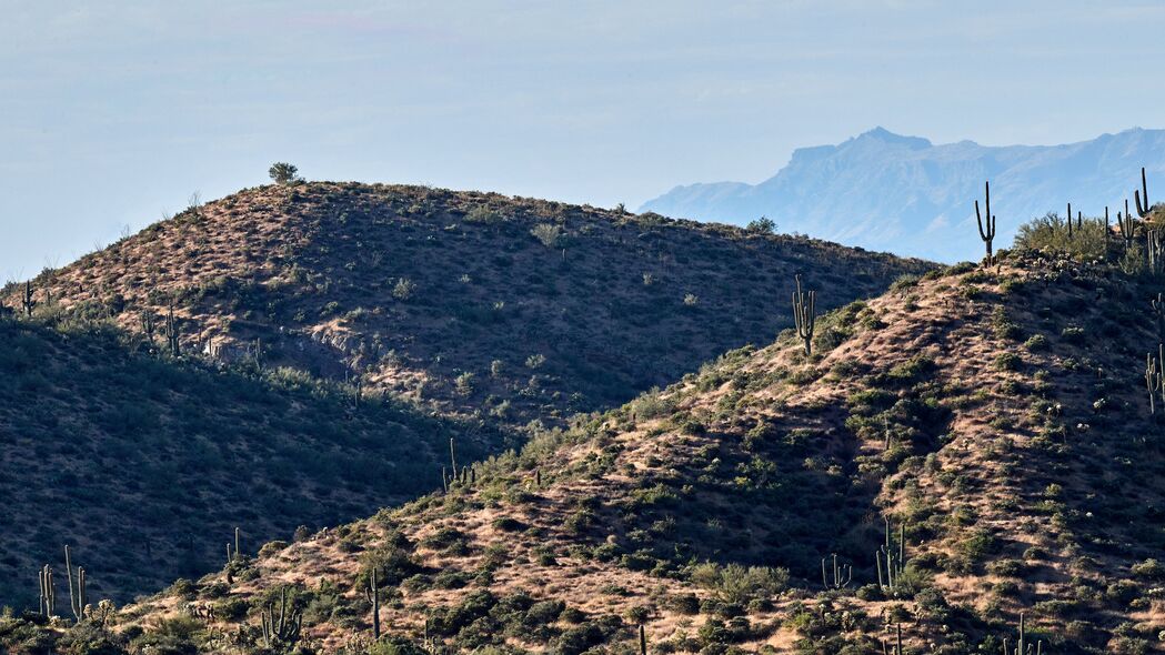
M 267 182 L 634 207 L 874 126 L 1165 127 L 1165 3 L 0 0 L 0 276 Z M 827 202 L 827 199 L 822 199 Z

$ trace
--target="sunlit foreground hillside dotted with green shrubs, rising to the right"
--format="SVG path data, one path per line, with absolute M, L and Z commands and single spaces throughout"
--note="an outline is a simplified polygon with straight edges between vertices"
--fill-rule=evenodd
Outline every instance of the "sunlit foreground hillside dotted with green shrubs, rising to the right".
M 821 317 L 810 358 L 788 332 L 727 353 L 447 494 L 177 583 L 108 639 L 249 652 L 287 590 L 302 649 L 363 652 L 375 570 L 377 653 L 635 652 L 637 625 L 652 653 L 871 653 L 898 628 L 906 653 L 996 653 L 1021 614 L 1043 653 L 1144 653 L 1165 629 L 1156 289 L 1031 252 L 903 280 Z M 881 585 L 888 538 L 905 565 Z M 831 554 L 853 579 L 822 590 Z

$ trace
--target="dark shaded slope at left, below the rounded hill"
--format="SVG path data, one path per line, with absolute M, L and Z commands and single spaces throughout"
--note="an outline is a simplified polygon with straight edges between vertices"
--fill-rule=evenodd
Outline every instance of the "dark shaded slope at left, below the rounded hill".
M 36 601 L 71 544 L 118 603 L 440 484 L 504 436 L 291 371 L 179 362 L 114 330 L 0 318 L 0 603 Z

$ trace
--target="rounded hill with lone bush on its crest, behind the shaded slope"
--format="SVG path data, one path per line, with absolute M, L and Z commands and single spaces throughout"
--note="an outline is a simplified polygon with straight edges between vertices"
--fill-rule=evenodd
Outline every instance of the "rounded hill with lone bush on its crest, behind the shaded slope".
M 34 281 L 47 317 L 359 381 L 444 415 L 562 424 L 929 265 L 832 244 L 419 186 L 264 186 Z M 7 290 L 19 307 L 22 287 Z

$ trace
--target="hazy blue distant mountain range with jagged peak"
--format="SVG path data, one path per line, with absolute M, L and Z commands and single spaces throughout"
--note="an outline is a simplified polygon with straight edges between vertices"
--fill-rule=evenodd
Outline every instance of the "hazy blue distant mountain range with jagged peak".
M 982 255 L 974 200 L 991 182 L 997 246 L 1018 226 L 1048 211 L 1103 216 L 1114 223 L 1132 202 L 1141 167 L 1150 199 L 1165 196 L 1165 129 L 1129 129 L 1062 146 L 934 145 L 881 127 L 838 146 L 793 152 L 788 165 L 760 184 L 719 182 L 677 186 L 641 211 L 747 224 L 761 216 L 782 232 L 939 261 Z M 1155 184 L 1156 182 L 1156 184 Z

